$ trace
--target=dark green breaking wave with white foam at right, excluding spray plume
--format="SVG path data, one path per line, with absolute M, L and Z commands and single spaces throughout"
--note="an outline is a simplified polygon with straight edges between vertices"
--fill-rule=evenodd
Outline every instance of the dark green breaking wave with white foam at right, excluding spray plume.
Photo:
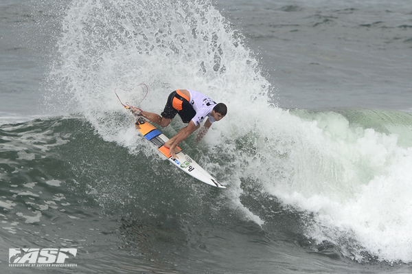
M 19 194 L 0 206 L 28 223 L 43 223 L 49 201 L 64 201 L 52 206 L 65 209 L 73 195 L 93 210 L 123 212 L 125 223 L 185 216 L 192 224 L 228 225 L 238 212 L 277 238 L 300 235 L 302 247 L 361 262 L 409 262 L 411 148 L 398 141 L 410 137 L 412 117 L 372 111 L 370 119 L 370 112 L 282 110 L 271 126 L 256 122 L 244 134 L 222 128 L 222 141 L 207 136 L 207 144 L 187 147 L 229 186 L 225 192 L 179 173 L 135 129 L 127 133 L 134 146 L 124 146 L 102 139 L 82 116 L 3 124 L 1 179 Z M 118 119 L 130 122 L 124 114 Z

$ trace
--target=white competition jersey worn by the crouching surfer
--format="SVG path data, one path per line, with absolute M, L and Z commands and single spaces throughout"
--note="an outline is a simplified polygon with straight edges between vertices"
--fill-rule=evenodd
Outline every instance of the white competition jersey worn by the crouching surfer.
M 194 115 L 192 119 L 194 125 L 197 126 L 198 124 L 201 124 L 206 117 L 209 117 L 210 123 L 215 122 L 216 120 L 214 117 L 211 117 L 210 114 L 211 111 L 213 111 L 216 102 L 200 92 L 192 91 L 191 89 L 187 89 L 187 91 L 190 93 L 190 104 L 194 111 L 196 111 L 196 115 Z

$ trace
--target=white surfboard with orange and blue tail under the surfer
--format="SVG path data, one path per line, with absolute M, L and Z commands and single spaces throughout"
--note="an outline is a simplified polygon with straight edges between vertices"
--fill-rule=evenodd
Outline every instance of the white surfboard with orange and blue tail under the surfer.
M 173 163 L 177 168 L 183 170 L 190 176 L 198 179 L 203 183 L 208 185 L 213 185 L 214 187 L 226 188 L 218 182 L 213 176 L 211 176 L 206 170 L 204 170 L 192 157 L 187 155 L 181 148 L 179 152 L 176 153 L 176 159 L 172 159 L 169 154 L 169 148 L 164 146 L 165 142 L 169 140 L 163 133 L 160 132 L 155 126 L 150 122 L 146 121 L 143 117 L 139 117 L 135 124 L 136 128 L 139 130 L 141 135 L 143 135 L 146 140 L 150 141 L 159 150 L 160 155 L 166 157 L 171 163 Z

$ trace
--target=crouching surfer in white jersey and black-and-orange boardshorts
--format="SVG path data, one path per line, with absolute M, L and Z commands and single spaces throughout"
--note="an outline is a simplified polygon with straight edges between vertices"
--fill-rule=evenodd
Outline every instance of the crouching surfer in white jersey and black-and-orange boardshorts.
M 131 107 L 130 109 L 135 115 L 141 115 L 163 127 L 168 126 L 176 114 L 179 114 L 182 122 L 187 124 L 187 126 L 165 143 L 165 147 L 170 149 L 170 155 L 172 155 L 173 159 L 176 159 L 176 152 L 179 152 L 176 151 L 176 146 L 200 128 L 205 117 L 209 117 L 209 119 L 206 120 L 203 128 L 198 133 L 196 141 L 200 141 L 207 133 L 207 130 L 209 130 L 211 124 L 220 121 L 227 113 L 227 106 L 225 104 L 216 104 L 214 100 L 211 100 L 206 95 L 190 89 L 178 89 L 170 93 L 161 115 L 142 111 L 136 107 Z

